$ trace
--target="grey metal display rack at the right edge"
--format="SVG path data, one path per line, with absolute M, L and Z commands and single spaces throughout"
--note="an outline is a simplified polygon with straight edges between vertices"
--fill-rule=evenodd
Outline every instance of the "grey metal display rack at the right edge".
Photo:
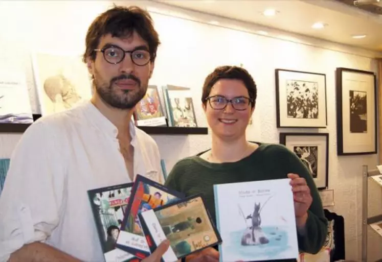
M 367 165 L 362 166 L 362 254 L 361 254 L 362 262 L 368 261 L 367 259 L 368 226 L 382 220 L 382 213 L 373 217 L 368 216 L 369 178 L 372 178 L 373 176 L 379 176 L 379 175 L 381 175 L 381 173 L 379 172 L 378 169 L 370 170 Z

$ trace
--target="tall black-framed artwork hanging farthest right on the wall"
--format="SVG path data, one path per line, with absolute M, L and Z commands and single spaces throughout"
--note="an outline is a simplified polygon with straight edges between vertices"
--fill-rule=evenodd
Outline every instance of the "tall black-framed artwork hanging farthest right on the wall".
M 376 76 L 336 68 L 337 154 L 377 153 Z

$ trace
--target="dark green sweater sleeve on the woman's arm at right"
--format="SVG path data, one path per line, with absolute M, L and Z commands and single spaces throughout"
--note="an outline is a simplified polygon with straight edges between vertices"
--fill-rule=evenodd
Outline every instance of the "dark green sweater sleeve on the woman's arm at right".
M 312 204 L 308 209 L 308 219 L 306 221 L 304 234 L 297 234 L 299 249 L 302 252 L 316 254 L 324 245 L 327 236 L 328 221 L 325 217 L 321 198 L 316 184 L 309 170 L 304 163 L 294 154 L 284 147 L 284 159 L 286 160 L 286 172 L 295 173 L 305 178 L 310 188 Z

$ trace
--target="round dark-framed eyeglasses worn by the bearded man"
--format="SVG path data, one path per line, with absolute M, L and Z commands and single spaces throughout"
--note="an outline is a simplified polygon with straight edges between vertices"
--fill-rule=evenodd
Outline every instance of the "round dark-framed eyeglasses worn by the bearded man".
M 130 54 L 131 61 L 136 65 L 146 65 L 150 62 L 150 52 L 144 49 L 136 49 L 132 51 L 125 51 L 121 47 L 112 45 L 106 46 L 102 49 L 95 49 L 94 51 L 102 52 L 106 62 L 110 64 L 118 64 L 125 59 L 126 53 Z

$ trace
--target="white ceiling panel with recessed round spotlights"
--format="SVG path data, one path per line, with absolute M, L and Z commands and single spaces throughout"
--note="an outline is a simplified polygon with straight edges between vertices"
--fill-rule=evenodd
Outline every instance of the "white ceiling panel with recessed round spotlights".
M 334 0 L 154 1 L 382 52 L 382 15 Z M 269 8 L 276 9 L 278 14 L 264 16 L 262 12 Z M 312 29 L 311 25 L 318 21 L 327 26 L 320 30 Z M 352 38 L 352 35 L 364 34 L 367 35 L 365 38 Z

